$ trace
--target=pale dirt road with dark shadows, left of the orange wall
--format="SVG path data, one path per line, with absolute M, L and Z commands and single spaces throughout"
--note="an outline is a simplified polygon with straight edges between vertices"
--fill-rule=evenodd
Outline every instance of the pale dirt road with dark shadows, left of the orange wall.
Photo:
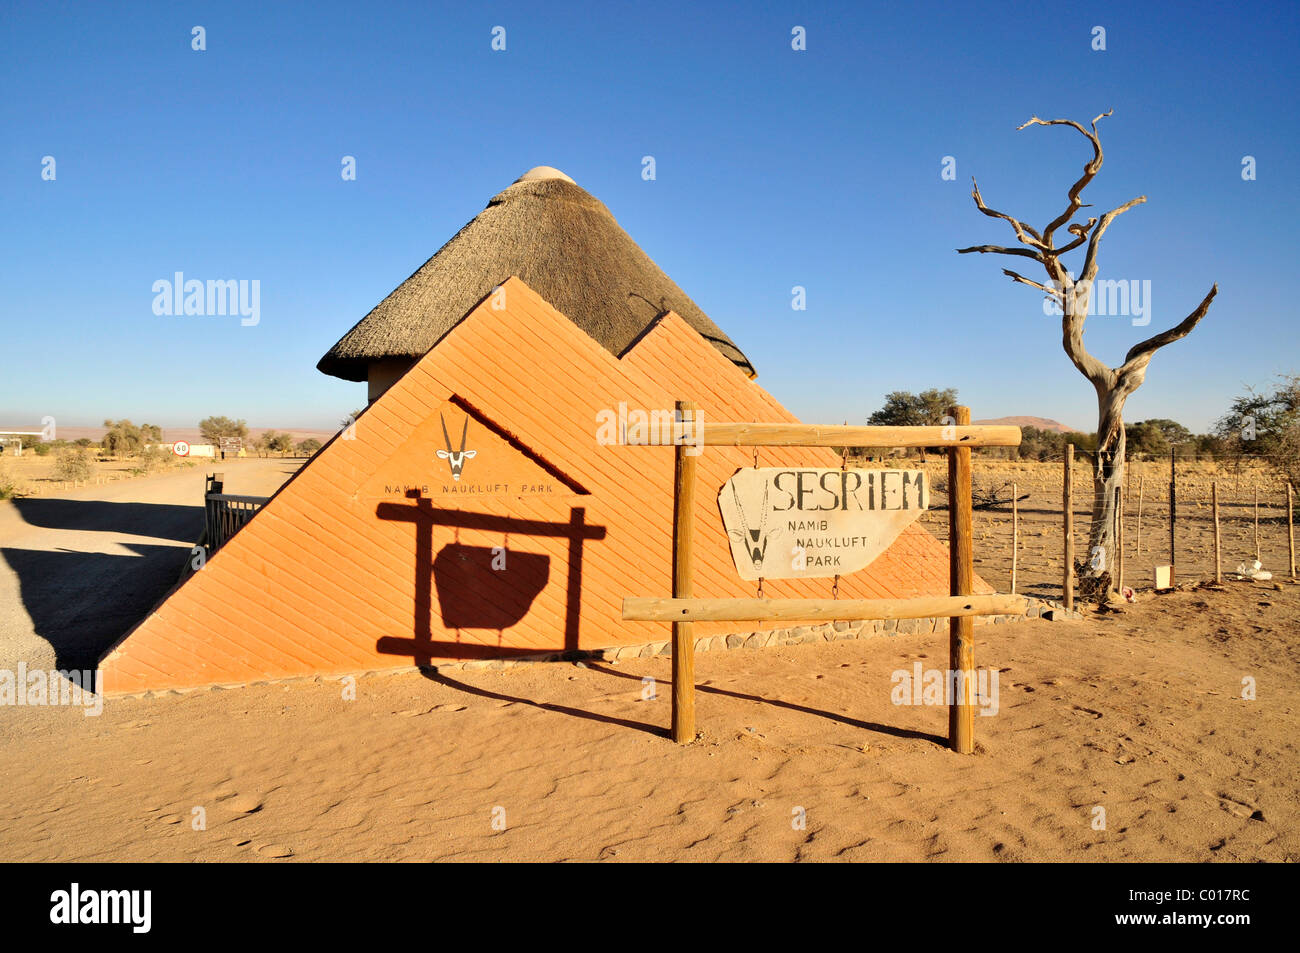
M 226 462 L 228 493 L 270 495 L 300 460 Z M 177 580 L 212 467 L 0 502 L 0 668 L 94 667 Z

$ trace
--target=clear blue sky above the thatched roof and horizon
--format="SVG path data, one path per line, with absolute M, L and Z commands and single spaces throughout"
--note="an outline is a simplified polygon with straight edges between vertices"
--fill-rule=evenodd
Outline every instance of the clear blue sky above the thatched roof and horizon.
M 1087 142 L 1015 126 L 1114 109 L 1084 198 L 1148 196 L 1106 234 L 1100 277 L 1150 281 L 1152 320 L 1093 317 L 1087 341 L 1117 364 L 1217 281 L 1126 413 L 1205 429 L 1245 385 L 1300 372 L 1284 291 L 1297 9 L 6 3 L 0 425 L 335 425 L 364 385 L 321 374 L 320 356 L 546 164 L 603 200 L 805 420 L 953 386 L 975 417 L 1091 430 L 1060 321 L 1000 270 L 1037 265 L 954 248 L 1014 238 L 975 211 L 972 174 L 1031 224 L 1065 208 Z M 259 280 L 260 324 L 155 315 L 152 283 L 174 272 Z

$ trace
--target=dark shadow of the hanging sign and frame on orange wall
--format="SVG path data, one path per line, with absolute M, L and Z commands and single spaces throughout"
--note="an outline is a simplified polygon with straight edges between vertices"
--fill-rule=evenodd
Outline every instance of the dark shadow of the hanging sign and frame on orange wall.
M 503 658 L 511 654 L 576 651 L 582 605 L 582 547 L 603 540 L 604 527 L 588 525 L 586 510 L 569 510 L 568 523 L 525 520 L 514 516 L 472 514 L 434 508 L 433 501 L 408 494 L 410 503 L 380 503 L 382 520 L 412 523 L 415 545 L 415 618 L 412 638 L 380 638 L 376 649 L 385 655 L 410 655 L 417 667 L 438 659 Z M 503 649 L 481 642 L 433 640 L 433 589 L 437 585 L 441 621 L 448 629 L 502 631 L 517 624 L 550 580 L 550 558 L 540 553 L 494 550 L 448 543 L 433 555 L 437 527 L 481 529 L 511 537 L 562 537 L 568 540 L 568 576 L 564 597 L 564 644 L 554 647 Z M 504 555 L 506 571 L 493 569 L 493 559 Z

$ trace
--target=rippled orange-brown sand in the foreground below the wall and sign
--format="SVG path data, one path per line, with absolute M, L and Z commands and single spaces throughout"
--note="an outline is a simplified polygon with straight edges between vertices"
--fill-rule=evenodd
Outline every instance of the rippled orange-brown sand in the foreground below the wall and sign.
M 890 701 L 933 636 L 702 654 L 684 748 L 659 658 L 16 707 L 0 858 L 1297 861 L 1297 632 L 1291 584 L 978 627 L 965 757 Z

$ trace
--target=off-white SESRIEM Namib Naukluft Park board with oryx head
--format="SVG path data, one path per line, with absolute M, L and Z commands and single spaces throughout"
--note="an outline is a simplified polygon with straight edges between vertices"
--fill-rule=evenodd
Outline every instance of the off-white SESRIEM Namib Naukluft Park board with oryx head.
M 718 508 L 741 579 L 844 576 L 930 507 L 919 469 L 740 469 Z

